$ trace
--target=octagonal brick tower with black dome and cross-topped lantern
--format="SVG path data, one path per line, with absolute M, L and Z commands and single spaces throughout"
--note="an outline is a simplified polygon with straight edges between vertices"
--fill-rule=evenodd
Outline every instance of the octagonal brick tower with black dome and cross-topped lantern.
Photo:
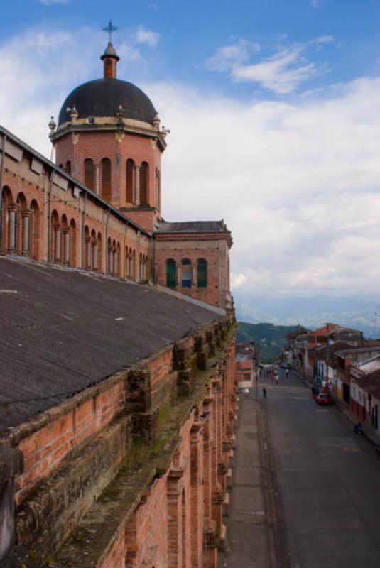
M 111 34 L 100 59 L 102 79 L 76 87 L 60 109 L 58 127 L 50 123 L 56 163 L 153 231 L 161 219 L 161 155 L 167 131 L 146 94 L 117 78 L 120 58 Z

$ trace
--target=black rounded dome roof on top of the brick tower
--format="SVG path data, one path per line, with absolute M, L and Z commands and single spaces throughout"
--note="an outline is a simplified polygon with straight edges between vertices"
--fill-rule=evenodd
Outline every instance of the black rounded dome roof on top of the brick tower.
M 151 99 L 134 84 L 121 79 L 95 79 L 81 84 L 65 99 L 58 118 L 58 126 L 70 121 L 67 108 L 75 107 L 78 119 L 87 116 L 116 116 L 122 104 L 126 119 L 152 123 L 156 115 Z

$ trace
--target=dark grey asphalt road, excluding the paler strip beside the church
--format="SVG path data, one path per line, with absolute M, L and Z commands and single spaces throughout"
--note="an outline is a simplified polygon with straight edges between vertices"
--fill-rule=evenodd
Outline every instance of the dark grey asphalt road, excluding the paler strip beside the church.
M 295 375 L 262 401 L 292 568 L 380 567 L 380 461 L 335 407 Z

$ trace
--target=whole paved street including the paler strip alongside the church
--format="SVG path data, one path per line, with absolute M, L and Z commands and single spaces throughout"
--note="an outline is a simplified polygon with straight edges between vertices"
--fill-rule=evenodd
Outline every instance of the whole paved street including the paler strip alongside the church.
M 267 400 L 261 389 L 266 386 Z M 379 568 L 380 461 L 291 373 L 241 395 L 227 568 Z M 273 475 L 274 472 L 274 475 Z

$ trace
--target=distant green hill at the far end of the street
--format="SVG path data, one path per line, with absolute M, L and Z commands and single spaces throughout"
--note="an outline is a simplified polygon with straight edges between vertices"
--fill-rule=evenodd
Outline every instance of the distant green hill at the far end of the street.
M 237 342 L 254 342 L 260 350 L 260 362 L 272 363 L 286 346 L 286 334 L 298 329 L 299 325 L 248 324 L 238 322 Z

